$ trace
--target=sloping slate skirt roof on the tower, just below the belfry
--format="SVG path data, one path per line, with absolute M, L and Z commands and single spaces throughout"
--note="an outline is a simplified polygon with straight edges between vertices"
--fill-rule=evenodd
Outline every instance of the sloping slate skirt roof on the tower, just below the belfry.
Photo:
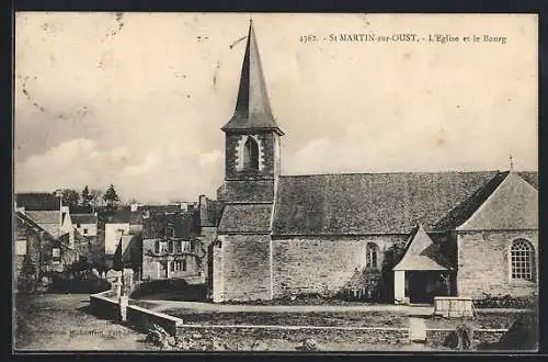
M 227 204 L 217 233 L 269 233 L 272 203 Z

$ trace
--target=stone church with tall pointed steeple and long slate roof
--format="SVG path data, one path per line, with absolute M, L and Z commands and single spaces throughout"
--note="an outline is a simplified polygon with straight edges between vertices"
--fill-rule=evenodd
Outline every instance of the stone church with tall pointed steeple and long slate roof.
M 372 301 L 432 303 L 537 291 L 537 172 L 281 174 L 284 132 L 252 22 L 221 131 L 214 302 L 357 289 Z

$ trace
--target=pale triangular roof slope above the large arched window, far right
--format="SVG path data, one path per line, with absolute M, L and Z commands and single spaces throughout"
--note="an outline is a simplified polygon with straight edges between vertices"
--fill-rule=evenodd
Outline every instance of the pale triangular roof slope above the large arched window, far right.
M 538 191 L 518 173 L 504 180 L 457 230 L 538 228 Z

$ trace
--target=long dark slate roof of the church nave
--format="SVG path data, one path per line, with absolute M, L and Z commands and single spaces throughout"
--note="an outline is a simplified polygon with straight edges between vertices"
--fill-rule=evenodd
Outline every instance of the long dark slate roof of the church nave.
M 503 179 L 499 171 L 283 176 L 273 234 L 408 234 L 418 224 L 454 229 Z

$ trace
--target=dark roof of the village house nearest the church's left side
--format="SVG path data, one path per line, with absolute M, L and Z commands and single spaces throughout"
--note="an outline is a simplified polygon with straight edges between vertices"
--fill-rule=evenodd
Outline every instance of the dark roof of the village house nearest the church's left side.
M 196 225 L 192 213 L 152 214 L 142 223 L 142 238 L 158 239 L 165 237 L 167 227 L 174 228 L 174 237 L 190 240 L 194 236 Z

